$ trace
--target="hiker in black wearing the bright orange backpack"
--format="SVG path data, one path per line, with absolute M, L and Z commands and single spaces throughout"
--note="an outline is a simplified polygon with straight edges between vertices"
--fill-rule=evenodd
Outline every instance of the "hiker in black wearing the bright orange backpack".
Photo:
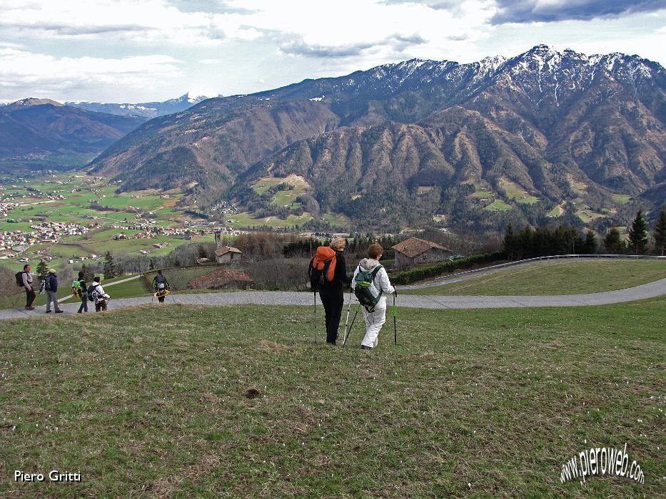
M 340 316 L 342 315 L 345 303 L 343 287 L 351 283 L 351 277 L 347 275 L 345 256 L 343 254 L 346 244 L 347 242 L 343 239 L 333 240 L 331 247 L 318 247 L 315 257 L 315 259 L 326 259 L 327 262 L 331 262 L 328 264 L 328 267 L 324 267 L 322 278 L 316 286 L 326 315 L 326 343 L 329 345 L 335 345 L 335 341 L 338 339 Z M 335 262 L 335 268 L 331 273 L 330 267 L 333 262 Z

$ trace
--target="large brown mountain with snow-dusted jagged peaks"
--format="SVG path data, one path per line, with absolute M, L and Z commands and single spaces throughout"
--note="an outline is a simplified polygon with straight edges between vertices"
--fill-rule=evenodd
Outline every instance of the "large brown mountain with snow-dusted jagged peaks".
M 469 64 L 414 59 L 209 99 L 151 120 L 90 167 L 124 189 L 153 182 L 143 173 L 161 175 L 157 164 L 179 170 L 158 183 L 196 182 L 200 207 L 225 196 L 243 207 L 253 182 L 294 173 L 322 210 L 365 222 L 490 215 L 476 191 L 602 216 L 617 212 L 615 193 L 664 201 L 665 83 L 638 56 L 548 46 Z M 176 148 L 191 153 L 185 170 L 164 160 Z

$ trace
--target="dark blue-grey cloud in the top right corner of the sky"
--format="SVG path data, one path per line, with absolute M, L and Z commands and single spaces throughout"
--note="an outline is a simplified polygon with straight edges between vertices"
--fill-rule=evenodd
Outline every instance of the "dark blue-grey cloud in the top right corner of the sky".
M 492 24 L 589 21 L 666 9 L 666 0 L 497 0 L 497 4 L 499 10 L 490 20 Z

